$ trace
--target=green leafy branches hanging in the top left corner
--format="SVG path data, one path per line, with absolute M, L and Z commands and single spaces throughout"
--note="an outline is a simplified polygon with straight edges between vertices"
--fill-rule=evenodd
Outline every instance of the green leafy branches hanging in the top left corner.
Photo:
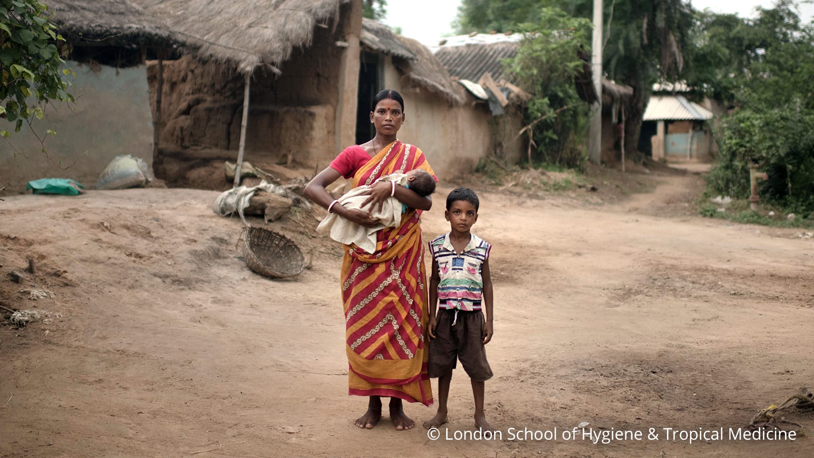
M 42 103 L 70 102 L 64 64 L 56 42 L 64 41 L 38 0 L 0 0 L 0 117 L 20 131 L 23 122 L 42 118 Z M 8 130 L 0 135 L 9 137 Z

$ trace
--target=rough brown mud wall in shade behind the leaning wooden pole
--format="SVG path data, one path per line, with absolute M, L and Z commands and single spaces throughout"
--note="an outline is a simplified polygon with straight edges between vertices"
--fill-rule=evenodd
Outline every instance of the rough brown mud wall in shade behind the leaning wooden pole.
M 341 17 L 347 17 L 349 8 L 343 6 Z M 361 28 L 361 19 L 357 25 Z M 279 65 L 282 74 L 263 68 L 252 74 L 246 161 L 286 161 L 291 154 L 296 164 L 311 166 L 327 165 L 336 156 L 340 59 L 346 48 L 335 43 L 351 26 L 339 21 L 335 31 L 317 27 L 311 46 L 295 46 L 290 59 Z M 358 58 L 350 64 L 358 66 Z M 153 92 L 156 73 L 151 62 Z M 234 71 L 234 64 L 190 56 L 164 62 L 160 148 L 215 148 L 224 150 L 222 156 L 236 157 L 243 87 L 243 75 Z

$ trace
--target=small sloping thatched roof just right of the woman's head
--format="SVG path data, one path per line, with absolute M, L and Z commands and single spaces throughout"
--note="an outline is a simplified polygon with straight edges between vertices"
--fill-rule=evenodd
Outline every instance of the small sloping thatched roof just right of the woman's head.
M 429 90 L 435 95 L 440 95 L 451 105 L 460 105 L 464 102 L 463 88 L 456 84 L 449 72 L 444 68 L 444 64 L 427 49 L 413 38 L 397 35 L 399 42 L 405 46 L 413 55 L 414 60 L 393 59 L 404 78 L 409 84 Z

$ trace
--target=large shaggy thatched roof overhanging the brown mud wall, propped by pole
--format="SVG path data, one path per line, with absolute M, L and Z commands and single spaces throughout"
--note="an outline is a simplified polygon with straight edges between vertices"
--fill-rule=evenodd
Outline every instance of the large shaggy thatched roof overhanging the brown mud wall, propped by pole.
M 197 48 L 204 59 L 250 73 L 278 66 L 295 46 L 308 47 L 317 24 L 333 28 L 350 0 L 133 0 Z M 274 67 L 272 67 L 274 68 Z

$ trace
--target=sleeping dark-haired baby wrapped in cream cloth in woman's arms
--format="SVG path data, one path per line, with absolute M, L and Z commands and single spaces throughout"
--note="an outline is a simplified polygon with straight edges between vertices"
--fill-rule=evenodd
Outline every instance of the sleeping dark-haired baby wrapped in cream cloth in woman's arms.
M 370 196 L 370 190 L 379 181 L 395 182 L 413 190 L 418 196 L 429 196 L 435 192 L 435 178 L 432 178 L 432 175 L 427 173 L 426 170 L 415 169 L 406 174 L 384 175 L 372 185 L 354 187 L 338 199 L 338 205 L 348 209 L 360 209 L 369 212 L 374 218 L 379 218 L 378 224 L 374 227 L 364 227 L 337 214 L 330 213 L 319 223 L 317 232 L 325 235 L 326 232 L 330 231 L 331 239 L 343 244 L 356 244 L 365 252 L 373 253 L 376 250 L 376 232 L 384 227 L 396 227 L 401 221 L 401 214 L 406 209 L 406 205 L 402 204 L 396 197 L 385 200 L 381 211 L 378 211 L 379 205 L 373 205 L 373 209 L 370 209 L 370 204 L 367 205 L 367 208 L 361 208 L 362 202 Z

